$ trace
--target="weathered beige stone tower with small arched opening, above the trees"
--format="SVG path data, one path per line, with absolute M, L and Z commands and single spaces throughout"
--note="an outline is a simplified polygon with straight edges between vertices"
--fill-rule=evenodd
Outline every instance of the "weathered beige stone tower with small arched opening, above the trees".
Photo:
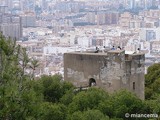
M 127 89 L 144 99 L 144 61 L 144 54 L 122 50 L 65 53 L 64 80 L 76 87 L 96 85 L 111 93 Z

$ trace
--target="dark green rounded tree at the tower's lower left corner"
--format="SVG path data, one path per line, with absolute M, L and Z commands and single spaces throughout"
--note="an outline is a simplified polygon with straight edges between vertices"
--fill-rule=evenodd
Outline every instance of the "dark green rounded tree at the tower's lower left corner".
M 42 76 L 40 82 L 42 84 L 42 90 L 44 99 L 48 102 L 59 102 L 60 98 L 67 91 L 73 89 L 73 85 L 68 82 L 62 82 L 62 77 L 60 75 L 54 76 Z

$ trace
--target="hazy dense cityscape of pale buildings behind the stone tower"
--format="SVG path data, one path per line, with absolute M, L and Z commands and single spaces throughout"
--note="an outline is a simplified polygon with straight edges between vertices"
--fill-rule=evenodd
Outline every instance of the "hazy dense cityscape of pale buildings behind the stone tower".
M 0 30 L 42 63 L 36 75 L 63 74 L 63 53 L 95 47 L 140 48 L 158 62 L 158 0 L 1 0 Z

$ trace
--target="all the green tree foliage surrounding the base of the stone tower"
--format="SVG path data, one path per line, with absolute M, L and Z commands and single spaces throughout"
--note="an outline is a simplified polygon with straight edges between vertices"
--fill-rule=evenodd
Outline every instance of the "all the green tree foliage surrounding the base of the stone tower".
M 91 87 L 75 93 L 61 75 L 34 79 L 38 65 L 25 48 L 0 35 L 0 120 L 122 120 L 125 113 L 160 114 L 160 64 L 145 76 L 147 101 L 126 90 L 109 94 Z M 33 70 L 31 75 L 26 69 Z

